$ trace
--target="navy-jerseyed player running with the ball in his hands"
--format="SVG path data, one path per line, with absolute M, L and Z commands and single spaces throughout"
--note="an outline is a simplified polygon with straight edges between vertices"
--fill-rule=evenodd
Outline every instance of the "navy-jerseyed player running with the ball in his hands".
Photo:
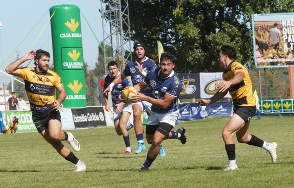
M 178 99 L 182 89 L 181 79 L 173 70 L 175 59 L 171 53 L 162 53 L 160 68 L 149 71 L 140 83 L 133 86 L 138 95 L 132 96 L 132 102 L 147 101 L 152 104 L 146 125 L 146 140 L 151 144 L 151 147 L 141 171 L 149 170 L 160 151 L 163 140 L 179 139 L 182 144 L 185 144 L 187 140 L 186 130 L 183 127 L 177 131 L 171 131 L 180 116 Z M 147 87 L 152 90 L 151 96 L 144 95 L 141 92 Z

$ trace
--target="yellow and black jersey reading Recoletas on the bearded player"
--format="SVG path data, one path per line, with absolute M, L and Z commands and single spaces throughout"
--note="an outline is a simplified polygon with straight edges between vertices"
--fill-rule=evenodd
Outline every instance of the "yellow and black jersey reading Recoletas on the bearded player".
M 48 115 L 54 105 L 55 88 L 62 85 L 59 75 L 51 70 L 46 73 L 37 72 L 32 68 L 19 68 L 17 75 L 24 79 L 33 114 Z

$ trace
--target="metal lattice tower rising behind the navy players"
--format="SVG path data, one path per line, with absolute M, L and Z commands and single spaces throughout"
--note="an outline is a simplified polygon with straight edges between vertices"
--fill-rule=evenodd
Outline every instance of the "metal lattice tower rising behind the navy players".
M 105 71 L 110 61 L 119 61 L 123 69 L 132 59 L 128 0 L 100 0 L 103 29 L 103 48 L 111 47 L 110 57 L 104 53 Z M 125 8 L 122 10 L 121 1 Z M 126 33 L 123 32 L 123 28 Z

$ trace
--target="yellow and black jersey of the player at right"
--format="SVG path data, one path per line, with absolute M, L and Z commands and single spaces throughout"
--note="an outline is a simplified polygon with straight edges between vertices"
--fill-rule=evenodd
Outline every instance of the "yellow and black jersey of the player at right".
M 223 72 L 223 80 L 231 80 L 235 73 L 242 71 L 245 73 L 243 80 L 236 84 L 231 85 L 229 90 L 230 95 L 233 99 L 234 106 L 255 106 L 255 98 L 253 97 L 252 83 L 248 74 L 247 69 L 238 63 L 233 61 L 229 64 L 226 70 Z

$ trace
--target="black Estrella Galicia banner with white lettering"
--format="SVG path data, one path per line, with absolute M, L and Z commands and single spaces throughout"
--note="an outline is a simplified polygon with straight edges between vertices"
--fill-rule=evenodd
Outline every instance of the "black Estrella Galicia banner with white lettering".
M 106 126 L 103 107 L 72 108 L 76 128 Z

